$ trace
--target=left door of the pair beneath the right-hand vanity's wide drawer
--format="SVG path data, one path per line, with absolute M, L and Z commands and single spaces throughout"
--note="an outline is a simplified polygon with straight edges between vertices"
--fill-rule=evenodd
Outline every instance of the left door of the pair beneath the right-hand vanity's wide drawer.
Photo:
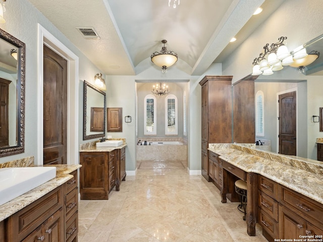
M 282 205 L 279 205 L 278 217 L 280 238 L 299 238 L 299 235 L 305 235 L 305 219 L 296 215 Z

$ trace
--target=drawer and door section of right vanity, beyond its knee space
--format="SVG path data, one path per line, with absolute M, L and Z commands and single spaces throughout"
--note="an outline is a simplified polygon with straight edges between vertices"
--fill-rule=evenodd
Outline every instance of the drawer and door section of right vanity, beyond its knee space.
M 323 235 L 322 204 L 271 179 L 258 177 L 258 222 L 264 237 L 274 241 L 275 238 Z

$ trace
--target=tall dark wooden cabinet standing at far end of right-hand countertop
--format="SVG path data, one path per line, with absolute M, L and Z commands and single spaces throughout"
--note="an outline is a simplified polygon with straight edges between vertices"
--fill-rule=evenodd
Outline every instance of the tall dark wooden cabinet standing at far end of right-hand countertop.
M 202 164 L 203 177 L 209 176 L 208 144 L 232 143 L 232 76 L 205 76 L 202 87 Z M 212 172 L 212 171 L 211 171 Z M 214 178 L 214 177 L 213 177 Z

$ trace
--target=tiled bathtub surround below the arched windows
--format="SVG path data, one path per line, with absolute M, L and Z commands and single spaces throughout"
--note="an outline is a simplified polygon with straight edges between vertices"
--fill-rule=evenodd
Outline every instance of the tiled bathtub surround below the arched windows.
M 149 138 L 141 140 L 149 142 L 157 141 L 179 141 L 183 142 L 182 138 Z M 137 141 L 137 142 L 138 142 Z M 187 144 L 181 145 L 137 145 L 137 161 L 142 160 L 187 160 Z

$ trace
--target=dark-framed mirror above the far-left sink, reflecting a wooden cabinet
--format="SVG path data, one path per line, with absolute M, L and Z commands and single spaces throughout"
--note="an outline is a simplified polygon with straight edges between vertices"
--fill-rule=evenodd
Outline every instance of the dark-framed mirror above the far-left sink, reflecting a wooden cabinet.
M 105 136 L 105 92 L 84 81 L 83 140 Z

